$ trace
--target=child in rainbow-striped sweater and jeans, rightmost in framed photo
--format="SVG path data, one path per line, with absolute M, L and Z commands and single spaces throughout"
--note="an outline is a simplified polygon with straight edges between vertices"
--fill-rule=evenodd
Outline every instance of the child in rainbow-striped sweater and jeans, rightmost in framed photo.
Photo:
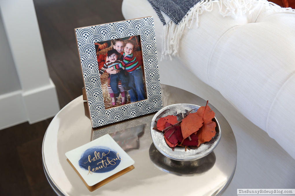
M 114 70 L 125 68 L 127 71 L 127 75 L 129 77 L 128 86 L 132 89 L 135 88 L 137 93 L 137 98 L 134 97 L 133 101 L 140 101 L 144 100 L 145 92 L 143 88 L 143 77 L 142 77 L 142 69 L 136 57 L 133 55 L 133 50 L 135 43 L 132 40 L 125 40 L 124 41 L 124 54 L 123 54 L 123 62 L 121 64 L 116 64 L 112 66 Z M 130 100 L 132 101 L 131 95 Z

